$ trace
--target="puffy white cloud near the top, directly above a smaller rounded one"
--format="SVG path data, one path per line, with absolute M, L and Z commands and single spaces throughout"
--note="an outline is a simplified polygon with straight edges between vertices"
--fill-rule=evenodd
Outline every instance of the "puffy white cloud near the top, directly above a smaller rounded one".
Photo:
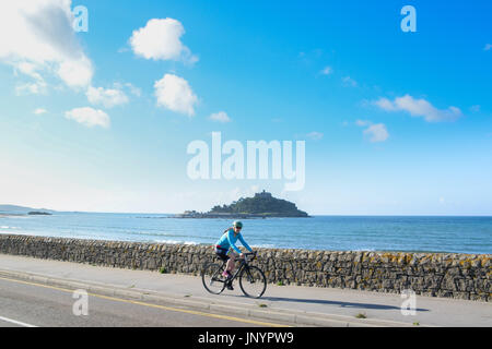
M 133 31 L 130 46 L 133 52 L 145 59 L 174 60 L 195 63 L 198 57 L 191 55 L 183 45 L 180 37 L 185 34 L 183 24 L 173 19 L 153 19 L 138 31 Z

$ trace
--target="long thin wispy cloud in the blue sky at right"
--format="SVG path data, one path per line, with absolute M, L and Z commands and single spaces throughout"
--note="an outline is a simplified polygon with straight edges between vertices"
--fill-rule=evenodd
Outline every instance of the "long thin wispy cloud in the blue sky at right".
M 455 121 L 462 116 L 461 110 L 456 107 L 437 109 L 425 99 L 415 99 L 410 95 L 397 97 L 395 100 L 379 98 L 374 105 L 386 111 L 407 111 L 412 117 L 424 118 L 427 122 Z

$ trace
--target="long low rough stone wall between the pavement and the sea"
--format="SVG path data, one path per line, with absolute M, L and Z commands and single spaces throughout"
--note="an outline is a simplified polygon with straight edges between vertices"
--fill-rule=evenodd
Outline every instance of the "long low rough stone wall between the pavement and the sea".
M 492 299 L 490 254 L 257 249 L 269 282 L 468 300 Z M 199 275 L 212 246 L 0 234 L 0 253 Z M 0 266 L 1 268 L 1 266 Z

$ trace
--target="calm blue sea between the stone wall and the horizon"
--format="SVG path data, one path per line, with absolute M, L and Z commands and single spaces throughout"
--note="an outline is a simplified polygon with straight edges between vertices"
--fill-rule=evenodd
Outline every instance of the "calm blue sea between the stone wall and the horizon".
M 79 239 L 213 244 L 224 219 L 168 215 L 56 213 L 0 217 L 0 233 Z M 492 253 L 492 217 L 316 216 L 245 219 L 253 246 L 336 251 Z

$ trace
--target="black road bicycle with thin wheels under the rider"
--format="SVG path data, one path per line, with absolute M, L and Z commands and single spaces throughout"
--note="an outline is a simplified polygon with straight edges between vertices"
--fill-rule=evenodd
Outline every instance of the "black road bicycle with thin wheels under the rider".
M 267 278 L 263 272 L 257 266 L 248 264 L 248 257 L 256 257 L 256 253 L 245 253 L 244 258 L 239 260 L 239 266 L 236 268 L 236 273 L 226 278 L 222 276 L 225 270 L 226 260 L 222 260 L 222 265 L 211 262 L 207 263 L 201 272 L 201 280 L 207 291 L 212 294 L 220 294 L 225 289 L 225 286 L 238 278 L 239 287 L 243 293 L 249 298 L 260 298 L 263 296 L 267 289 Z

